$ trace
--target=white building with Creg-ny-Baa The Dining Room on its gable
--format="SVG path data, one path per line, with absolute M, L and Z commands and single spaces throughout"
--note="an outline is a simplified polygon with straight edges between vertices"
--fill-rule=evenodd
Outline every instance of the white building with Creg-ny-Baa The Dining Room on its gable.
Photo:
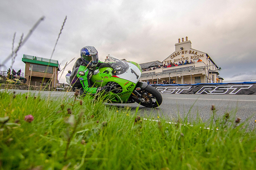
M 157 68 L 154 70 L 142 71 L 140 81 L 149 81 L 154 84 L 161 84 L 161 82 L 172 82 L 173 80 L 177 84 L 196 84 L 196 83 L 221 83 L 223 78 L 219 77 L 219 68 L 212 58 L 204 52 L 191 48 L 191 41 L 187 39 L 182 41 L 179 39 L 175 44 L 175 52 L 162 61 L 162 65 L 168 65 L 169 63 L 179 62 L 193 62 L 193 64 L 185 64 L 167 68 Z M 152 62 L 155 63 L 156 61 Z M 142 70 L 151 68 L 149 63 L 140 64 Z M 147 67 L 149 66 L 149 67 Z

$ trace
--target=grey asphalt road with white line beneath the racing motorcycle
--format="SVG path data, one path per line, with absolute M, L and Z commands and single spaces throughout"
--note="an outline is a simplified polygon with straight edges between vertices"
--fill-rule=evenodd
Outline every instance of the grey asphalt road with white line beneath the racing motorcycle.
M 1 89 L 2 91 L 3 89 Z M 13 90 L 10 90 L 13 91 Z M 27 93 L 27 90 L 15 90 L 16 92 Z M 32 95 L 61 97 L 67 95 L 73 97 L 74 92 L 59 91 L 30 91 Z M 165 117 L 170 121 L 176 121 L 178 115 L 183 119 L 188 114 L 189 121 L 196 120 L 197 115 L 202 121 L 207 121 L 212 114 L 211 106 L 216 107 L 216 116 L 230 113 L 231 116 L 241 118 L 241 122 L 247 121 L 250 126 L 256 123 L 256 96 L 255 95 L 174 95 L 162 94 L 163 102 L 157 108 L 147 108 L 137 103 L 130 104 L 108 104 L 118 107 L 129 106 L 136 110 L 139 106 L 140 115 L 152 115 L 153 117 Z

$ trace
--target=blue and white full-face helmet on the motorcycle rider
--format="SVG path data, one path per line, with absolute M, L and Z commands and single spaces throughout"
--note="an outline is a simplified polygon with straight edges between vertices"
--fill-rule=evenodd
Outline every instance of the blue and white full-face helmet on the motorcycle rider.
M 99 62 L 98 51 L 93 46 L 85 46 L 80 51 L 81 59 L 90 67 L 96 67 Z

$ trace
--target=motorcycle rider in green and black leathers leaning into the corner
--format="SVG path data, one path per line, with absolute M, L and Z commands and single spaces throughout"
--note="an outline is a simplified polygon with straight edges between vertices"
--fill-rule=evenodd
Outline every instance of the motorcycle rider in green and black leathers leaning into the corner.
M 104 90 L 109 91 L 109 86 L 92 87 L 93 83 L 90 81 L 94 70 L 103 63 L 99 61 L 98 51 L 92 46 L 85 46 L 81 49 L 80 56 L 76 60 L 70 75 L 71 86 L 80 89 L 80 94 L 96 94 Z

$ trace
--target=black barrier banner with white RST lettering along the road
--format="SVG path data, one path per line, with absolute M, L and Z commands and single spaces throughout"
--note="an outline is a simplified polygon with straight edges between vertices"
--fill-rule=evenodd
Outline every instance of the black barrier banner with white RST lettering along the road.
M 161 94 L 256 95 L 256 82 L 152 85 Z

